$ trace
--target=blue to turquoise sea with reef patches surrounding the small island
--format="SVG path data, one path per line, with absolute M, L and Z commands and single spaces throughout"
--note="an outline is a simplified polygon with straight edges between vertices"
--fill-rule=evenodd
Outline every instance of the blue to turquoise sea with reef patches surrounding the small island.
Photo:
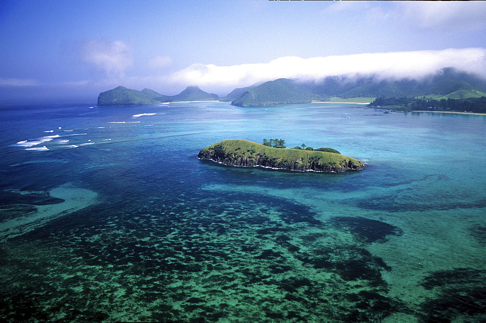
M 486 116 L 4 107 L 1 322 L 486 322 Z M 281 138 L 367 164 L 196 158 Z

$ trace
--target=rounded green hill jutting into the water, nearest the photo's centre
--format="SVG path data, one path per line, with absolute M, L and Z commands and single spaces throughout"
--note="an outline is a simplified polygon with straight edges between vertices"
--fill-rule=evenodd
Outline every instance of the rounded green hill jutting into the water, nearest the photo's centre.
M 265 82 L 245 91 L 231 104 L 237 106 L 264 106 L 312 102 L 312 92 L 289 79 Z

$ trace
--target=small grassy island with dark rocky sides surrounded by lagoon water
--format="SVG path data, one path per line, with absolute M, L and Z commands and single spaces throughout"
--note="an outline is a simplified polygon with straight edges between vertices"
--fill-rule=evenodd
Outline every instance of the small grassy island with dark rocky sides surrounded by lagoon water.
M 215 143 L 201 149 L 197 157 L 228 166 L 260 166 L 278 170 L 343 172 L 366 167 L 359 160 L 340 153 L 274 148 L 242 139 Z

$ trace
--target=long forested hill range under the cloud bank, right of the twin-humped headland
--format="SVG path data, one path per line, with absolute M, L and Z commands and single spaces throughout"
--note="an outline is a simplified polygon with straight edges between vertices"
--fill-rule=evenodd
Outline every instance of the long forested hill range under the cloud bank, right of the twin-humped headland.
M 235 91 L 231 94 L 234 94 Z M 330 97 L 351 99 L 422 96 L 437 100 L 486 96 L 486 80 L 453 68 L 442 68 L 434 75 L 422 80 L 386 80 L 377 76 L 349 77 L 343 75 L 306 83 L 278 79 L 246 90 L 239 98 L 234 99 L 232 104 L 264 106 L 327 101 Z

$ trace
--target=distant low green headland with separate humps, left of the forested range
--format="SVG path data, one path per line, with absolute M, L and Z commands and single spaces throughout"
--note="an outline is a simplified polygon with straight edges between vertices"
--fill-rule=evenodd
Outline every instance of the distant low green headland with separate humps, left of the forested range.
M 98 105 L 149 105 L 162 102 L 212 101 L 218 100 L 218 98 L 217 94 L 204 92 L 197 86 L 188 86 L 184 91 L 173 96 L 159 94 L 148 88 L 138 91 L 124 86 L 118 86 L 100 93 L 98 96 Z

